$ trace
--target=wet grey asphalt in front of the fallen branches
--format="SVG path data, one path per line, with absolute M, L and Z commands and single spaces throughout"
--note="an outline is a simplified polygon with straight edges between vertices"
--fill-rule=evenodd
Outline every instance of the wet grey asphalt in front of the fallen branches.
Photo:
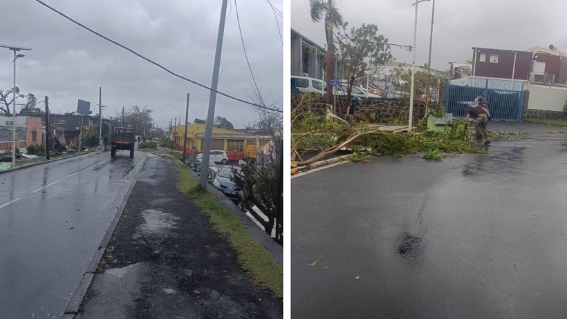
M 492 128 L 533 134 L 294 178 L 292 318 L 565 318 L 567 135 Z

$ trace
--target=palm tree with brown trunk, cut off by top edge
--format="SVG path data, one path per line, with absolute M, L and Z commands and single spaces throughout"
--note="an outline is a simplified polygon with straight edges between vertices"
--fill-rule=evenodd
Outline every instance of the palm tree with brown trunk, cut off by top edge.
M 325 70 L 327 73 L 327 104 L 333 103 L 333 90 L 331 90 L 331 77 L 335 75 L 335 46 L 333 46 L 333 28 L 344 26 L 342 15 L 335 6 L 335 1 L 309 0 L 311 7 L 311 20 L 321 21 L 325 14 L 325 35 L 327 40 L 327 55 Z

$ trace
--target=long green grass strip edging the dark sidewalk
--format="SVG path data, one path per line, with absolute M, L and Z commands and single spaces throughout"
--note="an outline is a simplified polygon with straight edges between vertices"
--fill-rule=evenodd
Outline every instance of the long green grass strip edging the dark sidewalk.
M 278 298 L 283 298 L 283 269 L 259 242 L 252 239 L 236 218 L 216 197 L 201 187 L 199 181 L 189 172 L 187 165 L 168 155 L 180 172 L 177 189 L 183 195 L 191 196 L 203 209 L 215 231 L 221 233 L 236 251 L 239 264 L 248 277 L 259 287 L 270 289 Z

